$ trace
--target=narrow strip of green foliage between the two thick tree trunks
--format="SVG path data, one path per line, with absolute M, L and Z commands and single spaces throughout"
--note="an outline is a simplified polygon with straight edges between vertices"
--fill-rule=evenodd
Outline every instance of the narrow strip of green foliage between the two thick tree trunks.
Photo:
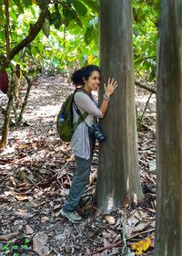
M 156 77 L 158 10 L 158 0 L 133 3 L 134 57 L 139 79 L 152 81 Z

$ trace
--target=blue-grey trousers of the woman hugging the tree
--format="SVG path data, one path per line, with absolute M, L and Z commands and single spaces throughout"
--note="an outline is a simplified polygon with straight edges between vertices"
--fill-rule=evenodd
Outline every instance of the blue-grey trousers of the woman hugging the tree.
M 72 186 L 69 190 L 69 196 L 64 204 L 64 210 L 76 211 L 78 203 L 83 196 L 90 176 L 92 157 L 88 160 L 76 156 L 76 170 L 74 171 Z

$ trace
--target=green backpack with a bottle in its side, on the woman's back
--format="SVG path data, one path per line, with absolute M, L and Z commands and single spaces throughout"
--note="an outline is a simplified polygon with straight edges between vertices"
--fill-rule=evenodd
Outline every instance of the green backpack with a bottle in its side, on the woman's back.
M 83 91 L 81 89 L 76 89 L 76 91 Z M 71 138 L 73 136 L 73 133 L 76 131 L 76 127 L 79 123 L 82 123 L 86 116 L 88 115 L 87 112 L 81 113 L 78 107 L 76 106 L 76 102 L 74 101 L 74 95 L 76 93 L 74 91 L 72 94 L 70 94 L 66 101 L 63 102 L 62 107 L 60 111 L 57 114 L 56 119 L 56 128 L 57 132 L 59 134 L 59 137 L 63 142 L 70 142 Z M 85 91 L 83 91 L 86 93 Z M 76 109 L 76 112 L 79 115 L 77 123 L 73 123 L 73 106 Z

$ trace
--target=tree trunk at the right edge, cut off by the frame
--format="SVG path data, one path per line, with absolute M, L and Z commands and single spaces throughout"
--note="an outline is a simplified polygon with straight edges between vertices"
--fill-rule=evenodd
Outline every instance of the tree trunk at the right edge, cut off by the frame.
M 182 0 L 161 3 L 156 256 L 182 255 Z

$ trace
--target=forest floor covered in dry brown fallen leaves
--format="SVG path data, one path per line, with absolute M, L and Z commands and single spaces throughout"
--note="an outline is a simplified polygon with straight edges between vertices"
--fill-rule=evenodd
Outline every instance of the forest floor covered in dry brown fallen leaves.
M 24 125 L 10 129 L 8 146 L 0 153 L 0 255 L 134 256 L 136 250 L 132 251 L 131 245 L 137 241 L 143 241 L 136 244 L 140 255 L 153 255 L 156 97 L 150 98 L 138 133 L 143 202 L 109 215 L 88 203 L 81 210 L 84 220 L 72 224 L 60 217 L 59 210 L 69 191 L 75 161 L 69 145 L 56 133 L 56 114 L 71 91 L 73 87 L 61 76 L 40 78 L 30 92 Z M 149 95 L 148 91 L 136 90 L 140 114 Z M 6 101 L 0 92 L 2 107 Z M 1 132 L 2 124 L 0 113 Z M 97 152 L 84 195 L 88 200 L 96 187 Z

